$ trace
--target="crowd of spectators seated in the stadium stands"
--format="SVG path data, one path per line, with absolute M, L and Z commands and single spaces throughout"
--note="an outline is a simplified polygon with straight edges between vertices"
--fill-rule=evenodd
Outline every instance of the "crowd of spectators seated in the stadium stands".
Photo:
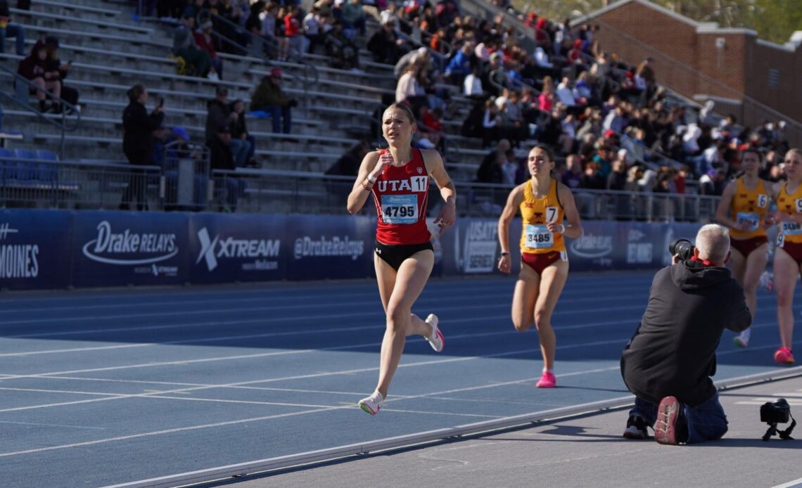
M 554 22 L 520 14 L 506 0 L 495 2 L 531 29 L 531 52 L 503 14 L 473 18 L 454 0 L 318 0 L 308 13 L 291 2 L 168 0 L 145 2 L 144 13 L 178 20 L 172 54 L 188 74 L 216 80 L 224 72 L 218 51 L 234 52 L 258 39 L 268 58 L 326 54 L 330 66 L 346 70 L 359 69 L 359 47 L 367 48 L 376 62 L 395 65 L 395 101 L 408 103 L 418 119 L 416 146 L 447 155 L 444 121 L 460 112 L 457 103 L 469 100 L 460 135 L 480 139 L 489 151 L 476 173 L 480 182 L 520 183 L 527 172 L 516 149 L 533 140 L 553 147 L 561 161 L 557 177 L 577 189 L 683 193 L 695 180 L 700 193 L 718 195 L 749 148 L 764 154 L 762 177 L 784 177 L 783 122 L 743 127 L 734 116 L 711 117 L 710 105 L 690 109 L 659 87 L 652 58 L 630 66 L 606 51 L 598 26 Z M 4 5 L 7 10 L 0 0 L 0 34 L 16 36 L 19 50 L 24 30 L 2 15 Z M 367 37 L 371 17 L 379 28 Z M 57 49 L 55 38 L 40 40 L 19 73 L 67 99 L 63 79 L 71 63 L 60 63 Z M 42 111 L 62 110 L 57 98 L 32 92 Z M 77 92 L 71 96 L 77 101 Z M 220 167 L 253 165 L 256 141 L 246 128 L 246 111 L 272 119 L 274 132 L 290 133 L 297 101 L 282 91 L 277 67 L 255 88 L 250 107 L 226 96 L 218 90 L 209 102 L 205 143 L 225 140 L 233 166 Z

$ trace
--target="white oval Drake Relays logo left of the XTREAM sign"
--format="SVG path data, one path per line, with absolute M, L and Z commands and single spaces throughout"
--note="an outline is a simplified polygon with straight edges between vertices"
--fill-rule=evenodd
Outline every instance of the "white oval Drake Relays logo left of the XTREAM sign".
M 83 244 L 83 256 L 103 264 L 122 266 L 152 264 L 168 260 L 178 254 L 175 234 L 111 232 L 111 224 L 103 220 L 98 224 L 97 239 Z M 126 257 L 126 255 L 156 254 L 149 257 Z

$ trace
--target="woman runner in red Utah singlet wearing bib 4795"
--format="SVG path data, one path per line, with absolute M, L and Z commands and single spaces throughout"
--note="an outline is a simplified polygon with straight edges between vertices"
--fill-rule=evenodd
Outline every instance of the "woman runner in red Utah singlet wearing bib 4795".
M 387 329 L 379 360 L 379 383 L 375 392 L 358 404 L 371 415 L 379 412 L 387 398 L 407 336 L 425 337 L 438 353 L 444 346 L 437 317 L 431 314 L 423 321 L 411 309 L 435 264 L 431 233 L 426 226 L 429 176 L 445 200 L 435 219 L 440 232 L 456 220 L 456 189 L 437 151 L 411 147 L 416 130 L 415 116 L 406 105 L 393 103 L 387 107 L 382 131 L 390 147 L 365 156 L 348 196 L 348 212 L 354 214 L 372 194 L 379 216 L 373 262 Z

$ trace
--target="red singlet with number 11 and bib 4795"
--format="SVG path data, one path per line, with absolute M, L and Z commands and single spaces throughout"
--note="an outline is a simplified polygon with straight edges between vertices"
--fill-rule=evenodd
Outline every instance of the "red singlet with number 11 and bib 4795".
M 387 150 L 382 150 L 383 155 Z M 373 185 L 379 216 L 376 240 L 382 244 L 423 244 L 431 240 L 426 227 L 429 173 L 419 149 L 403 166 L 388 166 Z

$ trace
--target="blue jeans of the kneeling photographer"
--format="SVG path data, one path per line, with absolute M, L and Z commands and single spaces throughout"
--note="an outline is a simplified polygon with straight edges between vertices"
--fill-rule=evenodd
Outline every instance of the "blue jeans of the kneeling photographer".
M 630 410 L 630 416 L 638 415 L 646 423 L 654 426 L 657 421 L 658 405 L 642 398 L 635 397 L 635 406 Z M 683 403 L 685 418 L 688 422 L 688 444 L 696 442 L 715 441 L 727 434 L 727 415 L 719 403 L 719 393 L 692 407 Z

